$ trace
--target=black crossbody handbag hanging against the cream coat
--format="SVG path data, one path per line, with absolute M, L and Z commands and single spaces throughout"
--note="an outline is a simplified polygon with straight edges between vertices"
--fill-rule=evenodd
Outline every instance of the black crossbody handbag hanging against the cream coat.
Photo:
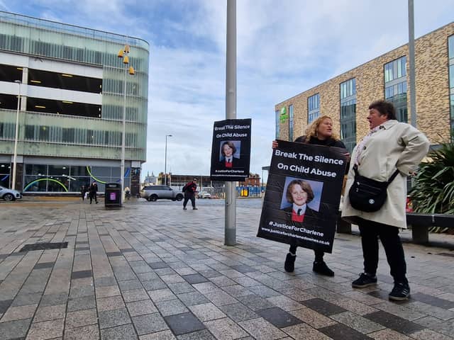
M 353 166 L 355 171 L 355 181 L 348 191 L 350 205 L 356 210 L 364 212 L 375 212 L 380 210 L 387 198 L 387 188 L 399 174 L 399 170 L 394 171 L 394 174 L 389 177 L 386 182 L 375 181 L 368 179 L 365 176 L 358 174 L 358 166 Z

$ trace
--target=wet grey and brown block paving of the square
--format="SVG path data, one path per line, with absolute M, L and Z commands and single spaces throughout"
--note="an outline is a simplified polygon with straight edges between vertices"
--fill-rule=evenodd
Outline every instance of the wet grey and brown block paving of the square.
M 452 235 L 404 245 L 412 298 L 395 303 L 382 252 L 377 287 L 351 288 L 357 235 L 326 254 L 335 277 L 307 249 L 285 273 L 288 246 L 255 237 L 260 200 L 238 202 L 236 246 L 223 201 L 103 203 L 0 203 L 0 339 L 454 339 Z M 68 245 L 20 251 L 37 242 Z

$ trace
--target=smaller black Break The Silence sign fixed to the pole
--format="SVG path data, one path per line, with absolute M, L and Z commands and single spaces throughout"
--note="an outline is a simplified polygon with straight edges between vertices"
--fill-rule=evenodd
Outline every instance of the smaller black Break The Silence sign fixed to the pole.
M 214 122 L 212 181 L 244 181 L 249 176 L 250 125 L 250 118 Z

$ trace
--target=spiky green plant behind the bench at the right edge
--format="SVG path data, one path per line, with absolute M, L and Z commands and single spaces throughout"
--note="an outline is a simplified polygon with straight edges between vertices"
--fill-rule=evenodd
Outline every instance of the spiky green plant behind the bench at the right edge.
M 454 143 L 442 144 L 428 157 L 409 192 L 414 212 L 454 214 Z

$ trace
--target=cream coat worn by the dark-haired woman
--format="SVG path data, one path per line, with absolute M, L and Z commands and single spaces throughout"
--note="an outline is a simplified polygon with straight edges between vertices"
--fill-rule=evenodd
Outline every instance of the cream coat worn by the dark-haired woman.
M 362 212 L 350 205 L 348 191 L 355 178 L 353 165 L 355 164 L 357 147 L 353 149 L 348 180 L 345 187 L 342 217 L 351 223 L 358 223 L 358 217 L 406 228 L 406 176 L 412 174 L 428 152 L 430 143 L 422 132 L 406 123 L 397 120 L 387 120 L 380 129 L 367 140 L 358 159 L 360 175 L 387 181 L 396 167 L 400 174 L 389 184 L 387 200 L 377 212 Z

